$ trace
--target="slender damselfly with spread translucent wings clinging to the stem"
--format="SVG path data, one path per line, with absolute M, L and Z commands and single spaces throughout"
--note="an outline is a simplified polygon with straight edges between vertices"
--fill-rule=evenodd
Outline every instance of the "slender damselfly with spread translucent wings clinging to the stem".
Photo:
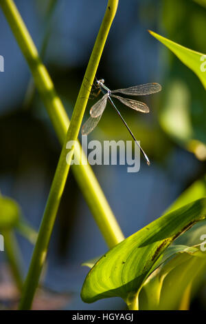
M 150 160 L 148 159 L 148 156 L 141 148 L 141 145 L 139 145 L 139 143 L 135 139 L 133 132 L 131 132 L 126 121 L 120 114 L 119 110 L 117 110 L 117 107 L 113 103 L 111 97 L 118 99 L 120 102 L 124 103 L 124 105 L 127 105 L 129 108 L 132 108 L 139 112 L 149 112 L 150 110 L 146 105 L 146 103 L 142 103 L 141 101 L 137 101 L 133 99 L 119 97 L 116 96 L 115 93 L 128 94 L 130 96 L 143 96 L 146 94 L 152 94 L 161 91 L 161 85 L 159 83 L 146 83 L 141 85 L 135 85 L 133 87 L 126 88 L 126 89 L 110 90 L 106 87 L 106 85 L 104 85 L 104 79 L 96 80 L 95 85 L 96 88 L 99 89 L 99 92 L 102 92 L 104 96 L 91 107 L 90 110 L 91 117 L 89 117 L 86 123 L 84 123 L 84 125 L 82 126 L 82 135 L 89 134 L 96 127 L 96 125 L 98 125 L 102 117 L 102 114 L 104 112 L 104 109 L 106 108 L 106 103 L 107 101 L 109 101 L 113 106 L 113 108 L 115 109 L 115 111 L 117 112 L 117 114 L 119 115 L 119 117 L 122 119 L 124 125 L 126 125 L 126 128 L 130 132 L 130 135 L 133 137 L 135 143 L 139 146 L 141 153 L 144 155 L 144 158 L 146 159 L 146 162 L 148 163 L 148 165 L 150 165 Z

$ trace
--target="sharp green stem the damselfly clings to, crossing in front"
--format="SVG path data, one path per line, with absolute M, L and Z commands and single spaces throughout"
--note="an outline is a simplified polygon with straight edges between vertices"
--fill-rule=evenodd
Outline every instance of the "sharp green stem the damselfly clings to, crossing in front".
M 1 0 L 1 7 L 3 8 L 3 12 L 5 16 L 8 18 L 8 21 L 10 23 L 10 26 L 16 35 L 16 30 L 21 30 L 23 34 L 27 32 L 25 25 L 23 24 L 23 21 L 21 20 L 21 17 L 19 15 L 19 12 L 16 9 L 16 6 L 14 6 L 14 2 L 12 0 Z M 66 162 L 66 156 L 67 156 L 67 150 L 66 150 L 66 143 L 67 141 L 76 141 L 78 138 L 78 133 L 80 130 L 80 125 L 82 123 L 82 118 L 84 115 L 84 110 L 87 105 L 87 98 L 89 97 L 89 92 L 91 90 L 91 85 L 88 83 L 93 83 L 93 79 L 95 77 L 96 70 L 98 69 L 98 64 L 100 62 L 100 57 L 102 55 L 102 51 L 104 48 L 104 44 L 106 42 L 106 38 L 108 36 L 108 31 L 110 30 L 111 23 L 113 22 L 113 18 L 115 17 L 115 12 L 117 10 L 117 0 L 108 0 L 108 6 L 106 8 L 106 13 L 104 15 L 104 19 L 102 21 L 102 25 L 100 27 L 100 31 L 98 33 L 98 37 L 95 41 L 95 45 L 93 48 L 93 52 L 91 54 L 91 58 L 89 60 L 89 64 L 87 66 L 87 70 L 82 82 L 82 86 L 80 88 L 80 92 L 78 94 L 78 99 L 76 101 L 75 108 L 73 110 L 73 115 L 71 118 L 71 124 L 69 126 L 69 130 L 67 132 L 67 136 L 65 139 L 65 143 L 62 148 L 62 152 L 60 154 L 60 159 L 58 161 L 58 166 L 56 168 L 56 172 L 54 175 L 54 180 L 52 182 L 52 187 L 49 192 L 49 197 L 47 200 L 47 205 L 45 207 L 45 212 L 43 216 L 43 220 L 41 222 L 41 228 L 38 233 L 38 239 L 36 242 L 36 245 L 34 247 L 34 252 L 32 255 L 32 261 L 30 263 L 30 269 L 27 274 L 27 278 L 25 281 L 23 294 L 21 298 L 21 303 L 19 308 L 21 310 L 30 309 L 32 305 L 32 301 L 34 298 L 34 293 L 36 291 L 36 287 L 38 285 L 38 280 L 41 275 L 41 270 L 43 267 L 43 264 L 45 262 L 45 257 L 47 255 L 47 248 L 49 245 L 49 239 L 52 234 L 52 230 L 54 227 L 54 221 L 56 219 L 56 213 L 58 211 L 58 205 L 60 203 L 60 199 L 62 196 L 62 192 L 65 188 L 65 182 L 67 179 L 67 174 L 69 172 L 69 165 L 72 158 L 72 155 L 70 154 L 69 161 L 67 159 Z M 11 21 L 12 18 L 12 21 Z M 15 19 L 16 18 L 16 19 Z M 17 26 L 14 28 L 14 21 L 15 25 L 17 23 Z M 21 34 L 21 36 L 23 35 Z M 22 37 L 19 39 L 19 33 L 17 32 L 16 39 L 19 40 L 19 44 L 22 42 Z M 27 61 L 30 63 L 30 67 L 32 66 L 32 70 L 34 72 L 34 80 L 36 77 L 36 72 L 41 72 L 43 70 L 43 74 L 45 76 L 45 73 L 47 71 L 45 70 L 44 65 L 41 63 L 40 58 L 38 57 L 37 50 L 34 46 L 34 43 L 32 42 L 32 39 L 30 39 L 29 35 L 25 35 L 25 41 L 22 45 L 22 50 L 25 54 L 25 57 L 27 57 L 27 49 L 28 47 L 34 51 L 34 57 L 35 59 L 31 60 L 31 57 L 27 57 Z M 31 52 L 32 54 L 32 52 Z M 37 60 L 37 61 L 36 61 Z M 39 75 L 39 74 L 38 74 Z M 61 117 L 63 119 L 67 119 L 67 115 L 65 114 L 65 110 L 62 107 L 62 103 L 60 102 L 60 99 L 56 96 L 56 93 L 54 92 L 54 85 L 52 84 L 51 79 L 49 78 L 49 75 L 47 75 L 47 79 L 38 79 L 38 89 L 43 91 L 43 98 L 45 103 L 47 103 L 48 97 L 45 96 L 45 94 L 48 93 L 48 91 L 51 94 L 53 94 L 53 100 L 57 101 L 58 105 L 60 105 L 60 110 L 62 110 L 63 114 Z M 51 99 L 51 97 L 49 97 Z M 51 101 L 49 100 L 49 103 Z M 58 110 L 59 112 L 59 110 Z M 50 117 L 52 118 L 52 121 L 55 125 L 55 128 L 59 130 L 59 132 L 62 133 L 62 128 L 60 128 L 59 123 L 57 123 L 56 119 L 54 119 L 54 113 L 50 114 Z M 60 129 L 59 129 L 60 128 Z M 61 135 L 62 136 L 62 135 Z M 75 145 L 76 146 L 76 145 Z M 74 150 L 74 147 L 73 147 Z M 72 150 L 72 152 L 73 152 Z M 93 199 L 93 197 L 91 197 Z M 104 208 L 104 205 L 101 207 Z M 106 219 L 107 225 L 111 225 L 111 220 Z M 102 228 L 103 230 L 103 228 Z M 110 239 L 110 236 L 108 234 L 106 235 L 106 239 Z M 114 237 L 114 235 L 113 235 Z M 111 243 L 111 242 L 110 242 Z M 116 242 L 117 243 L 117 242 Z

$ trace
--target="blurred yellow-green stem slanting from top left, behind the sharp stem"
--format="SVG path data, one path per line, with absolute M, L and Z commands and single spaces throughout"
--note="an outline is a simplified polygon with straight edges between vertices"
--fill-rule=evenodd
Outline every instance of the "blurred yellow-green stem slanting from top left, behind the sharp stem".
M 49 118 L 51 119 L 54 130 L 60 140 L 60 143 L 63 144 L 65 140 L 65 136 L 67 134 L 67 130 L 69 127 L 69 119 L 67 117 L 67 113 L 65 112 L 65 108 L 60 101 L 60 98 L 56 94 L 56 90 L 54 89 L 54 84 L 52 83 L 51 78 L 43 65 L 40 57 L 38 56 L 38 52 L 36 50 L 36 46 L 30 37 L 30 34 L 23 22 L 19 11 L 17 10 L 14 2 L 12 0 L 0 0 L 0 5 L 5 14 L 6 19 L 12 29 L 14 37 L 16 37 L 16 41 L 19 43 L 19 47 L 27 60 L 28 65 L 30 66 L 30 70 L 34 77 L 34 83 L 36 84 L 36 88 L 38 92 L 41 94 L 41 98 L 47 108 L 47 112 L 49 114 Z M 108 10 L 110 7 L 110 10 Z M 108 1 L 108 7 L 106 8 L 106 16 L 104 18 L 104 24 L 107 24 L 106 33 L 108 33 L 108 26 L 111 25 L 111 21 L 113 20 L 115 10 L 117 8 L 117 0 Z M 103 30 L 100 37 L 103 34 Z M 104 43 L 104 39 L 103 42 Z M 96 44 L 96 50 L 92 54 L 92 61 L 99 61 L 100 59 L 100 51 L 102 50 L 103 45 L 99 43 Z M 99 52 L 98 52 L 99 50 Z M 97 68 L 97 65 L 92 66 L 93 63 L 90 63 L 89 70 L 87 74 L 89 74 L 89 82 L 93 82 L 93 77 Z M 91 73 L 93 69 L 93 72 Z M 85 79 L 84 79 L 85 81 Z M 84 91 L 84 97 L 88 97 L 89 93 L 89 83 L 86 80 L 86 85 L 83 87 L 87 89 Z M 84 89 L 83 89 L 84 90 Z M 85 96 L 85 94 L 87 94 Z M 83 95 L 82 95 L 83 97 Z M 83 115 L 83 110 L 87 104 L 87 101 L 80 100 L 80 96 L 78 97 L 78 107 L 81 106 L 82 112 L 80 113 L 80 117 Z M 78 112 L 79 114 L 79 112 Z M 75 119 L 77 118 L 77 114 Z M 76 132 L 77 134 L 77 132 Z M 113 247 L 120 241 L 124 239 L 124 235 L 111 211 L 111 207 L 108 205 L 104 193 L 93 174 L 93 170 L 90 165 L 87 164 L 87 158 L 84 154 L 82 154 L 80 159 L 80 165 L 72 165 L 73 174 L 76 177 L 76 181 L 82 190 L 82 194 L 84 195 L 87 204 L 93 214 L 93 217 L 104 236 L 108 247 Z

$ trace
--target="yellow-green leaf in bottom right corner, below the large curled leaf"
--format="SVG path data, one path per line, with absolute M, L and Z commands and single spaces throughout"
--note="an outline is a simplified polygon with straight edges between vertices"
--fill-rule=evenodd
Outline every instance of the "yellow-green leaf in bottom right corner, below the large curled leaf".
M 143 291 L 148 296 L 149 303 L 140 305 L 141 309 L 154 310 L 176 310 L 179 309 L 181 298 L 185 290 L 191 286 L 191 297 L 196 292 L 205 276 L 206 258 L 198 258 L 190 254 L 177 254 L 170 262 L 166 263 L 153 277 L 149 277 L 148 282 L 143 287 Z M 143 292 L 142 291 L 142 292 Z M 141 292 L 141 293 L 142 293 Z M 159 292 L 157 294 L 157 292 Z M 151 300 L 154 294 L 156 300 Z M 141 294 L 139 296 L 141 300 Z

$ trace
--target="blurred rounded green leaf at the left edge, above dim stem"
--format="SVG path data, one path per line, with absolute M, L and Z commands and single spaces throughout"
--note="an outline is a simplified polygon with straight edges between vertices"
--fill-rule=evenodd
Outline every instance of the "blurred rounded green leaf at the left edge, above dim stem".
M 16 201 L 0 196 L 0 231 L 14 227 L 18 223 L 20 215 L 21 211 Z

